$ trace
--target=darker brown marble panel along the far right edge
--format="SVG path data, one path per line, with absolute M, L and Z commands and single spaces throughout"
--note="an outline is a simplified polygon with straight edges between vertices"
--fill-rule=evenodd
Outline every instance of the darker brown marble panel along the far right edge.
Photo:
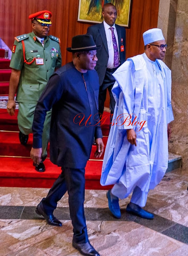
M 172 106 L 174 122 L 169 148 L 188 166 L 188 4 L 178 0 L 172 54 Z

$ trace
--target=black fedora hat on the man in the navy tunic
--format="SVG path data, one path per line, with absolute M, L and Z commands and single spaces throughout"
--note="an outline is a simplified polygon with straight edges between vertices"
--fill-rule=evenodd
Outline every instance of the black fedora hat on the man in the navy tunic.
M 90 34 L 78 35 L 72 38 L 72 46 L 67 48 L 68 52 L 92 51 L 100 48 L 101 45 L 95 44 Z

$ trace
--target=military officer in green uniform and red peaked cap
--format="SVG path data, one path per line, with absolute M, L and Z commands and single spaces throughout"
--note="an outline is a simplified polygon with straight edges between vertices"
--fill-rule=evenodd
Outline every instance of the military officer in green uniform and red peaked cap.
M 28 134 L 32 133 L 33 115 L 35 106 L 41 96 L 49 77 L 61 67 L 60 40 L 55 36 L 48 36 L 51 26 L 51 12 L 43 10 L 29 15 L 33 31 L 15 37 L 10 67 L 9 96 L 7 111 L 14 115 L 16 103 L 19 103 L 18 126 L 21 144 L 25 145 Z M 47 156 L 47 145 L 49 142 L 49 128 L 51 111 L 47 116 L 43 129 L 43 153 L 42 161 L 36 164 L 35 170 L 45 171 L 43 161 Z

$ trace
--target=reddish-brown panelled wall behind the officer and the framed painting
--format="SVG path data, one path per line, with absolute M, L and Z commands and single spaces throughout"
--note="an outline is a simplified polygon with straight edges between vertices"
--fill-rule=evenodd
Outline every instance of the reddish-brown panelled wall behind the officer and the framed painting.
M 89 1 L 89 0 L 88 0 Z M 50 34 L 61 40 L 64 65 L 70 62 L 72 54 L 66 51 L 72 37 L 85 34 L 89 23 L 77 22 L 78 0 L 0 0 L 0 37 L 12 49 L 14 37 L 31 32 L 29 14 L 39 10 L 50 10 L 53 14 Z M 157 27 L 159 0 L 133 0 L 131 25 L 126 29 L 126 57 L 143 52 L 142 34 L 149 28 Z M 109 106 L 109 95 L 105 106 Z

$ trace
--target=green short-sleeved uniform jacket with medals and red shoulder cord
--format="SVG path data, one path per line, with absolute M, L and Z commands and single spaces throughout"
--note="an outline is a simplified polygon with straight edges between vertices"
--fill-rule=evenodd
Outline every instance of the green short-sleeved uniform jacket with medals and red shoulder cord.
M 42 65 L 24 63 L 22 40 L 25 44 L 25 59 L 31 62 L 37 57 L 43 59 Z M 50 76 L 55 68 L 61 67 L 61 50 L 59 38 L 46 36 L 44 47 L 36 39 L 33 32 L 16 37 L 14 41 L 14 51 L 12 54 L 10 67 L 22 70 L 18 85 L 16 100 L 30 104 L 37 104 Z

